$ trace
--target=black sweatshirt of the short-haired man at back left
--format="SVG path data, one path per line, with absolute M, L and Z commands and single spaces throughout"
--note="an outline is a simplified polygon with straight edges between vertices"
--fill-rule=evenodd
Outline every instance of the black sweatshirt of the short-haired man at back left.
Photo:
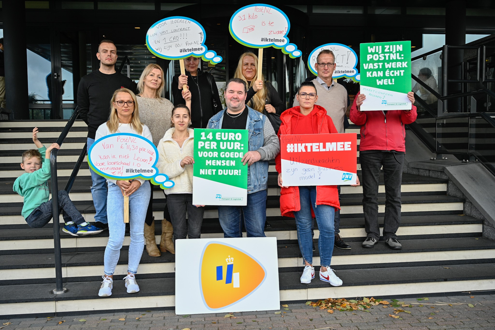
M 135 92 L 137 84 L 120 73 L 107 75 L 99 70 L 81 78 L 77 88 L 77 106 L 79 118 L 88 124 L 88 138 L 95 139 L 99 125 L 108 120 L 112 95 L 122 87 Z

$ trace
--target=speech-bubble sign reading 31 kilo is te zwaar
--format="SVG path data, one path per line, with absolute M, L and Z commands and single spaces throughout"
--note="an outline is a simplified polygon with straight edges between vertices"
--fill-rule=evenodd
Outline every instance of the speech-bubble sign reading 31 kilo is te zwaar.
M 238 43 L 253 48 L 275 47 L 296 58 L 302 52 L 289 43 L 290 29 L 289 18 L 282 10 L 262 3 L 242 7 L 232 15 L 229 24 L 230 34 Z

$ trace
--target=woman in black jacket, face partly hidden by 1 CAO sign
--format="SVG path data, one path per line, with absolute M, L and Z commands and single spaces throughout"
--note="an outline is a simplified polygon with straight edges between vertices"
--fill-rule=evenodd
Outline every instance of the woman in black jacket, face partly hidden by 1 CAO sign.
M 191 128 L 206 128 L 208 120 L 222 109 L 215 79 L 198 68 L 200 60 L 194 56 L 185 58 L 186 74 L 177 74 L 172 79 L 174 105 L 186 103 L 182 98 L 182 85 L 188 85 L 191 91 Z

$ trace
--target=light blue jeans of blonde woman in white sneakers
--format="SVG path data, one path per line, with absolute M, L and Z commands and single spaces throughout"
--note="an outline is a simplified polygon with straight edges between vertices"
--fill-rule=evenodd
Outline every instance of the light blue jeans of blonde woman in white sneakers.
M 145 181 L 129 196 L 129 225 L 131 243 L 129 244 L 129 262 L 127 272 L 136 274 L 145 246 L 145 220 L 151 188 Z M 124 242 L 124 196 L 119 186 L 108 183 L 108 243 L 105 248 L 105 275 L 113 275 L 120 257 L 120 249 Z

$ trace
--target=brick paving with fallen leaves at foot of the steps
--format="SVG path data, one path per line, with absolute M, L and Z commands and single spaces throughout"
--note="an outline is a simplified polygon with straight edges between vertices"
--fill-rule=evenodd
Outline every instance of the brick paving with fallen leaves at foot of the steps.
M 65 317 L 39 317 L 0 320 L 2 330 L 436 330 L 473 329 L 495 330 L 495 294 L 429 297 L 428 301 L 414 298 L 398 299 L 405 303 L 424 303 L 423 307 L 403 307 L 411 313 L 399 313 L 399 319 L 389 316 L 393 308 L 375 306 L 370 312 L 353 311 L 333 314 L 304 303 L 289 304 L 289 310 L 281 306 L 278 311 L 233 313 L 235 318 L 224 318 L 226 313 L 175 315 L 172 310 L 133 311 L 127 313 L 102 313 Z M 377 297 L 378 298 L 378 297 Z M 390 299 L 385 300 L 391 301 Z M 466 303 L 465 305 L 432 306 L 436 301 Z M 467 303 L 475 305 L 468 307 Z M 431 308 L 435 307 L 435 308 Z M 119 320 L 124 319 L 124 320 Z M 86 320 L 86 321 L 80 321 Z M 58 324 L 58 322 L 62 322 Z

